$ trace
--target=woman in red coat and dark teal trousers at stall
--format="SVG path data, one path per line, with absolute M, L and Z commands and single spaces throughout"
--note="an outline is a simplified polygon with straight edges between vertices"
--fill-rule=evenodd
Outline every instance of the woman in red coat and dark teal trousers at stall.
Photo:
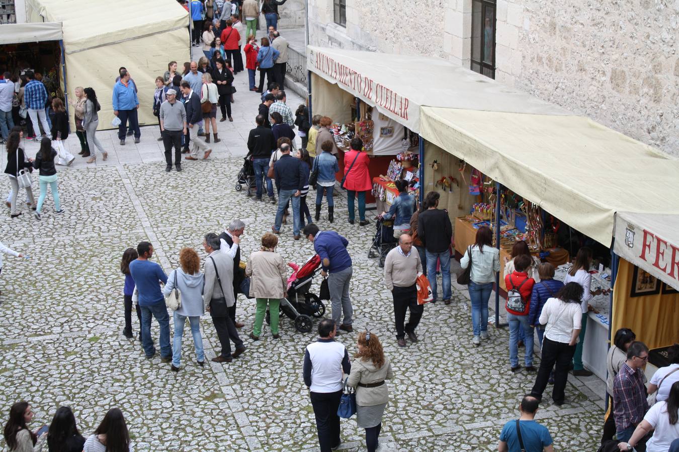
M 369 224 L 365 219 L 365 194 L 373 186 L 370 183 L 368 165 L 370 157 L 363 152 L 363 140 L 354 137 L 351 149 L 344 154 L 344 188 L 346 188 L 347 208 L 349 209 L 349 223 L 354 224 L 354 197 L 359 196 L 359 218 L 361 226 Z

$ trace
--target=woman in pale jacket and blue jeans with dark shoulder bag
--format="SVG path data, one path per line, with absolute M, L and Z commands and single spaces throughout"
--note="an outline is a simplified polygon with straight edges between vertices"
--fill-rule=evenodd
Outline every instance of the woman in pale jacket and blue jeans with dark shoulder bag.
M 421 211 L 427 207 L 423 207 Z M 488 300 L 493 291 L 495 274 L 500 271 L 500 251 L 493 246 L 493 233 L 488 226 L 481 226 L 476 231 L 476 241 L 464 251 L 460 266 L 463 269 L 469 267 L 470 260 L 471 271 L 467 287 L 471 300 L 471 325 L 474 333 L 472 342 L 478 346 L 481 339 L 488 339 Z

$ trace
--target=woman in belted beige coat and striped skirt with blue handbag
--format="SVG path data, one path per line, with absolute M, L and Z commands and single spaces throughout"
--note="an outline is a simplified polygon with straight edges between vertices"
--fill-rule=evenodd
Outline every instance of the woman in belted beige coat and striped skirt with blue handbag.
M 382 415 L 389 401 L 384 380 L 393 377 L 394 373 L 378 335 L 370 331 L 360 333 L 358 346 L 358 359 L 351 363 L 346 386 L 356 388 L 356 424 L 365 428 L 365 445 L 368 452 L 374 452 L 380 443 Z

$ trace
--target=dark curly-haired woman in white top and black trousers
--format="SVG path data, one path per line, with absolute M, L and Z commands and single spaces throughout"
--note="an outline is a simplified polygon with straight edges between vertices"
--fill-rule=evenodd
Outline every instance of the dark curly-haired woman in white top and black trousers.
M 556 405 L 564 403 L 564 389 L 568 381 L 568 367 L 575 352 L 575 344 L 581 329 L 580 300 L 583 287 L 578 283 L 568 283 L 549 298 L 540 313 L 540 325 L 545 327 L 543 339 L 543 359 L 530 394 L 542 400 L 543 392 L 549 381 L 549 373 L 554 370 L 554 387 L 552 400 Z

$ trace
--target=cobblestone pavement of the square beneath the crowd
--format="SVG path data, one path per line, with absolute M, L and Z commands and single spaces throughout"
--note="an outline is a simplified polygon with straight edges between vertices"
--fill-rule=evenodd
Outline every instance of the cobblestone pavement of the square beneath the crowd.
M 1 278 L 3 423 L 10 405 L 26 399 L 37 412 L 33 427 L 49 422 L 58 405 L 70 405 L 86 435 L 107 409 L 120 407 L 140 451 L 317 449 L 301 378 L 304 348 L 314 333 L 301 334 L 283 319 L 280 340 L 272 340 L 265 326 L 263 340 L 245 339 L 248 350 L 234 363 L 202 368 L 196 365 L 186 329 L 179 373 L 158 357 L 147 360 L 139 342 L 122 335 L 119 262 L 126 247 L 151 241 L 153 259 L 169 272 L 177 266 L 181 247 L 192 246 L 204 257 L 203 234 L 220 232 L 233 218 L 247 224 L 245 257 L 270 230 L 274 206 L 234 190 L 258 103 L 247 92 L 246 75 L 238 75 L 237 81 L 235 121 L 219 123 L 223 142 L 214 145 L 208 161 L 187 162 L 182 173 L 164 173 L 157 126 L 143 129 L 138 146 L 117 146 L 113 132 L 100 132 L 109 161 L 85 165 L 78 157 L 75 168 L 59 171 L 65 213 L 53 213 L 48 195 L 41 222 L 25 206 L 20 218 L 10 220 L 7 212 L 0 222 L 0 240 L 30 255 L 29 260 L 5 256 Z M 294 96 L 289 99 L 293 109 L 298 102 Z M 75 136 L 67 144 L 77 152 Z M 33 154 L 37 144 L 26 148 Z M 5 153 L 0 153 L 4 161 Z M 3 182 L 5 193 L 8 186 Z M 517 416 L 519 399 L 534 379 L 509 371 L 508 332 L 491 329 L 490 340 L 474 348 L 469 299 L 455 289 L 451 306 L 426 306 L 420 342 L 398 348 L 390 294 L 376 260 L 367 257 L 374 223 L 365 228 L 347 224 L 341 198 L 336 198 L 335 224 L 328 224 L 324 213 L 319 226 L 348 238 L 354 260 L 354 328 L 369 327 L 380 335 L 394 367 L 382 450 L 494 449 L 502 424 Z M 293 241 L 291 226 L 282 228 L 280 238 L 278 251 L 288 261 L 301 263 L 313 253 L 308 241 Z M 241 335 L 246 337 L 254 305 L 241 297 L 238 306 L 238 319 L 246 324 Z M 137 326 L 136 319 L 133 324 Z M 209 316 L 202 319 L 202 328 L 207 358 L 213 358 L 219 344 Z M 155 322 L 152 334 L 158 336 Z M 339 337 L 351 354 L 355 340 L 356 333 Z M 571 375 L 566 404 L 543 404 L 538 419 L 549 426 L 555 449 L 596 449 L 603 402 L 591 388 L 599 385 L 595 377 Z M 342 422 L 342 439 L 342 450 L 365 450 L 355 419 Z

